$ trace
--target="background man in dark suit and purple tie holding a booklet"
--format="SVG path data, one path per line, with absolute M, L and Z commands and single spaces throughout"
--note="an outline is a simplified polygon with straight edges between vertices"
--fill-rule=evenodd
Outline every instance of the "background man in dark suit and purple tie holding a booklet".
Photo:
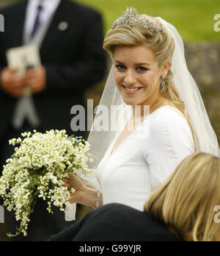
M 0 33 L 0 150 L 4 163 L 10 157 L 5 146 L 8 139 L 23 130 L 66 129 L 68 134 L 85 135 L 70 129 L 70 109 L 84 105 L 85 90 L 104 77 L 106 55 L 100 15 L 81 4 L 26 0 L 4 7 L 0 13 L 4 15 L 4 32 Z M 42 66 L 29 68 L 18 77 L 16 70 L 7 67 L 6 51 L 29 43 L 38 46 Z M 15 127 L 12 119 L 26 86 L 32 91 L 39 122 L 34 127 L 24 120 L 21 127 Z

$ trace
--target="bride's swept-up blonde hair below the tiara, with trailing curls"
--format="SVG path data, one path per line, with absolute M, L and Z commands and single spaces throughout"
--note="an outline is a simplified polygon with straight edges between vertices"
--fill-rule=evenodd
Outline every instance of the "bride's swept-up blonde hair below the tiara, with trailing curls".
M 114 29 L 110 29 L 109 32 L 106 33 L 103 49 L 108 51 L 111 59 L 113 59 L 114 49 L 117 46 L 147 46 L 153 50 L 159 68 L 165 67 L 167 63 L 170 63 L 168 74 L 164 79 L 166 86 L 162 95 L 183 113 L 194 137 L 191 121 L 186 113 L 186 106 L 180 99 L 179 93 L 172 81 L 173 74 L 171 70 L 171 60 L 175 50 L 175 41 L 166 27 L 164 27 L 157 18 L 143 14 L 139 15 L 139 18 L 147 18 L 152 21 L 155 26 L 162 26 L 164 28 L 164 33 L 155 32 L 154 29 L 145 29 L 139 24 L 120 25 Z

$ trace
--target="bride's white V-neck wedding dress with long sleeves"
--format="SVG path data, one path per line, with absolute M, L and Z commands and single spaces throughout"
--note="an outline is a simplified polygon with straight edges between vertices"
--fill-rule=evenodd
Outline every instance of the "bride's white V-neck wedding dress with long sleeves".
M 147 129 L 148 136 L 140 137 Z M 96 170 L 103 205 L 117 202 L 143 210 L 150 193 L 164 182 L 181 160 L 194 152 L 186 118 L 168 105 L 148 115 L 111 153 L 117 136 Z

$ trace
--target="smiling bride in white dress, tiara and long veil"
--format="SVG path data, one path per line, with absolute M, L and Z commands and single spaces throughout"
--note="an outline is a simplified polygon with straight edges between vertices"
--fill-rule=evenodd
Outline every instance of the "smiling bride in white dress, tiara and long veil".
M 70 174 L 64 182 L 76 190 L 73 204 L 117 202 L 143 210 L 146 199 L 186 156 L 195 151 L 219 156 L 219 144 L 172 24 L 127 8 L 107 32 L 103 48 L 113 66 L 96 118 L 101 106 L 118 106 L 111 115 L 117 129 L 91 129 L 96 177 Z M 130 129 L 136 120 L 139 125 Z M 74 210 L 67 212 L 66 219 L 74 219 Z

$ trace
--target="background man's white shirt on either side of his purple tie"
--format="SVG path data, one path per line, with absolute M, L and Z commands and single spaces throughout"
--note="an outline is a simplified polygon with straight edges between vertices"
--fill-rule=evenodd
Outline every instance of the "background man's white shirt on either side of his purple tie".
M 26 35 L 30 35 L 32 33 L 32 29 L 34 27 L 34 21 L 37 15 L 37 6 L 41 4 L 43 6 L 43 10 L 40 14 L 40 23 L 44 24 L 48 21 L 48 18 L 56 11 L 59 6 L 61 0 L 29 0 L 27 9 L 26 9 L 26 24 L 25 24 L 25 32 Z

